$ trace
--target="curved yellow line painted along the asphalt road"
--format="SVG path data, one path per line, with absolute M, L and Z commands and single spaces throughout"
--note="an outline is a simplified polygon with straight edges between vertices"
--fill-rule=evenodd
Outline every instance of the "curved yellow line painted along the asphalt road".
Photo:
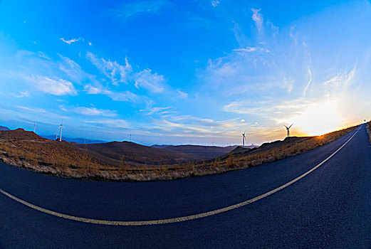
M 359 130 L 360 130 L 360 127 L 357 129 L 357 132 Z M 357 132 L 355 132 L 355 134 L 357 134 Z M 256 196 L 255 198 L 251 198 L 247 201 L 243 201 L 241 203 L 236 203 L 236 204 L 231 205 L 231 206 L 226 206 L 225 208 L 219 208 L 219 209 L 216 209 L 214 211 L 194 214 L 192 216 L 182 216 L 182 217 L 177 217 L 177 218 L 165 218 L 165 219 L 151 220 L 151 221 L 104 221 L 104 220 L 97 220 L 97 219 L 93 219 L 93 218 L 82 218 L 82 217 L 77 217 L 77 216 L 70 216 L 68 214 L 58 213 L 56 211 L 51 211 L 51 210 L 48 210 L 46 208 L 41 208 L 39 206 L 28 203 L 27 201 L 23 201 L 20 198 L 17 198 L 16 196 L 12 196 L 11 194 L 7 193 L 6 191 L 4 191 L 2 189 L 0 189 L 0 193 L 4 194 L 5 196 L 8 196 L 9 198 L 12 198 L 14 201 L 22 203 L 23 205 L 28 206 L 29 208 L 33 208 L 37 211 L 41 211 L 43 213 L 48 213 L 52 216 L 57 216 L 57 217 L 60 217 L 60 218 L 66 218 L 68 220 L 80 221 L 80 222 L 85 222 L 85 223 L 109 225 L 109 226 L 148 226 L 148 225 L 158 225 L 158 224 L 167 224 L 167 223 L 177 223 L 177 222 L 181 222 L 181 221 L 191 221 L 191 220 L 195 220 L 197 218 L 204 218 L 204 217 L 207 217 L 207 216 L 213 216 L 213 215 L 218 214 L 218 213 L 224 213 L 226 211 L 231 211 L 233 209 L 240 208 L 241 206 L 249 205 L 250 203 L 253 203 L 253 202 L 258 201 L 262 198 L 270 196 L 271 194 L 274 194 L 274 193 L 276 193 L 276 192 L 278 192 L 282 189 L 285 189 L 287 186 L 290 186 L 291 184 L 295 183 L 296 181 L 299 181 L 303 177 L 305 177 L 308 174 L 310 174 L 311 172 L 315 171 L 315 169 L 317 169 L 321 165 L 325 164 L 325 162 L 328 161 L 331 157 L 333 157 L 336 153 L 338 153 L 340 151 L 340 149 L 343 149 L 343 147 L 345 147 L 345 145 L 348 144 L 348 142 L 350 142 L 350 140 L 355 136 L 355 134 L 353 134 L 352 137 L 350 137 L 350 139 L 348 139 L 347 142 L 345 142 L 339 149 L 337 149 L 328 158 L 323 160 L 320 164 L 313 167 L 309 171 L 305 172 L 301 176 L 298 176 L 296 179 L 293 179 L 292 181 L 289 181 L 287 184 L 283 184 L 282 186 L 279 186 L 276 189 L 268 191 L 265 194 L 261 194 L 260 196 Z

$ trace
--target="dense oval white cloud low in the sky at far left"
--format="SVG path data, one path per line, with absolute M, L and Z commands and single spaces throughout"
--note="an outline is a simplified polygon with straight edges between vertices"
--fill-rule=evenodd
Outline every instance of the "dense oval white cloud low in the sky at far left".
M 48 78 L 46 76 L 26 76 L 26 80 L 36 85 L 38 90 L 51 95 L 75 95 L 76 90 L 72 83 L 60 78 Z

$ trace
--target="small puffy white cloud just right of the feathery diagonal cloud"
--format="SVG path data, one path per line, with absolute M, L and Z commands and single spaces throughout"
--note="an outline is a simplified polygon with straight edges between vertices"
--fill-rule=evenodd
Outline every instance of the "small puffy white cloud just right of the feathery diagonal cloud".
M 135 73 L 135 87 L 145 88 L 151 92 L 163 92 L 164 91 L 164 75 L 158 75 L 152 73 L 149 68 Z

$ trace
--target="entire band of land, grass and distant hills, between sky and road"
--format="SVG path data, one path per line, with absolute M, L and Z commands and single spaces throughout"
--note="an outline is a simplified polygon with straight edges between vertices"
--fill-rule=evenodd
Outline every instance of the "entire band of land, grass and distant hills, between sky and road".
M 215 153 L 215 148 L 170 147 L 188 152 L 180 153 L 166 147 L 159 149 L 132 142 L 75 144 L 51 141 L 33 132 L 16 129 L 0 133 L 0 161 L 33 171 L 80 179 L 179 179 L 244 169 L 292 157 L 332 142 L 352 129 L 355 127 L 319 137 L 288 137 L 254 149 L 236 147 L 228 154 L 204 161 L 200 160 L 198 153 L 207 152 L 207 149 Z

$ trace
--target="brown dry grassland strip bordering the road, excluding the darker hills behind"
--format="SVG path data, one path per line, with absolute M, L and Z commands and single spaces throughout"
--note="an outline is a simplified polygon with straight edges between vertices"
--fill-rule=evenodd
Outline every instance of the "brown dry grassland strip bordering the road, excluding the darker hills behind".
M 370 126 L 370 123 L 368 124 Z M 133 164 L 122 155 L 105 157 L 74 143 L 56 142 L 38 137 L 23 129 L 0 133 L 0 161 L 43 174 L 99 181 L 155 181 L 189 176 L 217 174 L 266 164 L 308 152 L 343 137 L 355 127 L 330 132 L 318 137 L 291 137 L 244 154 L 216 157 L 207 161 L 180 164 Z M 371 136 L 370 136 L 371 138 Z M 263 144 L 264 145 L 264 144 Z

